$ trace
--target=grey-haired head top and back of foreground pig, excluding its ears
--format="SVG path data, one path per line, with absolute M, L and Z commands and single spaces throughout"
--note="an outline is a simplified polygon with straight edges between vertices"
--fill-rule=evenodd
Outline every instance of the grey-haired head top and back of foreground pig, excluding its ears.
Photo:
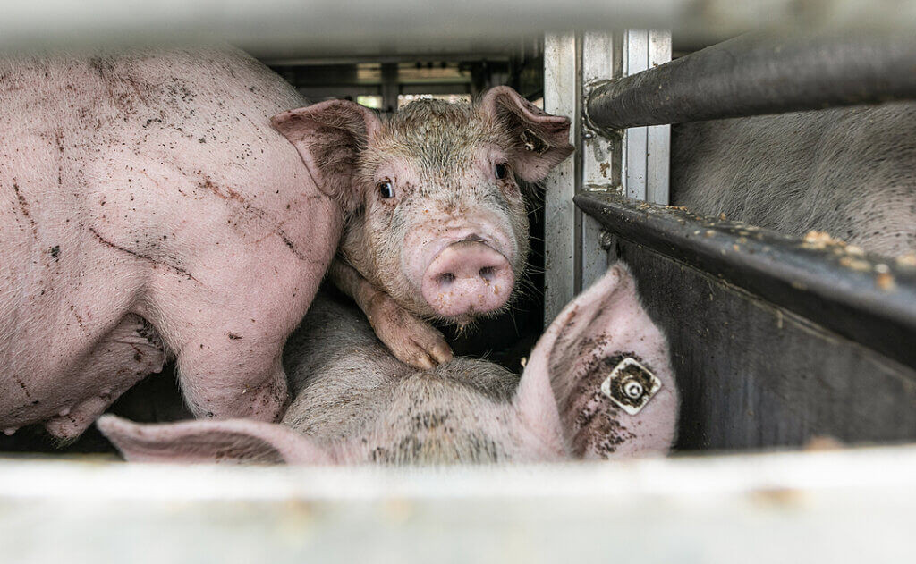
M 331 292 L 316 296 L 283 362 L 295 395 L 283 423 L 348 457 L 495 461 L 510 449 L 518 374 L 463 357 L 429 371 L 401 363 L 361 312 Z M 437 446 L 413 448 L 420 444 Z

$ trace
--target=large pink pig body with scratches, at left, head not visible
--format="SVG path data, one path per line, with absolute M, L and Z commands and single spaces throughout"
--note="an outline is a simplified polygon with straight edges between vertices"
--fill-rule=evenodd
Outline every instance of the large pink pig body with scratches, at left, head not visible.
M 0 60 L 0 429 L 78 436 L 169 354 L 197 417 L 274 420 L 343 212 L 232 50 Z

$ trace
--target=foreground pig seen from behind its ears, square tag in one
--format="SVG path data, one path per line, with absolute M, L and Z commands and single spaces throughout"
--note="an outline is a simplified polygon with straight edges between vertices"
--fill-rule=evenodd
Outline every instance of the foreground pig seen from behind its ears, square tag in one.
M 321 294 L 284 363 L 296 399 L 282 425 L 98 426 L 130 461 L 444 464 L 663 453 L 678 414 L 667 343 L 623 266 L 563 309 L 520 379 L 463 357 L 400 363 L 358 311 Z

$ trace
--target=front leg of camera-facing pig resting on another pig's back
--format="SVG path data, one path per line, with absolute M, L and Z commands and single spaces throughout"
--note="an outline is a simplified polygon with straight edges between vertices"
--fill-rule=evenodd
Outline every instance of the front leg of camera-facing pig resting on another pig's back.
M 429 323 L 417 319 L 385 292 L 360 276 L 353 266 L 335 258 L 331 264 L 334 284 L 354 298 L 381 342 L 402 363 L 428 370 L 452 360 L 452 348 Z

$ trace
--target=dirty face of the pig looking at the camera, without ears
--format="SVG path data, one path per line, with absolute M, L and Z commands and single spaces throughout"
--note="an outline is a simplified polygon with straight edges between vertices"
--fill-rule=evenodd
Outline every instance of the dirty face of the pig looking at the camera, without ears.
M 344 255 L 420 316 L 463 323 L 501 309 L 528 255 L 511 143 L 470 106 L 409 104 L 363 153 L 365 211 Z

